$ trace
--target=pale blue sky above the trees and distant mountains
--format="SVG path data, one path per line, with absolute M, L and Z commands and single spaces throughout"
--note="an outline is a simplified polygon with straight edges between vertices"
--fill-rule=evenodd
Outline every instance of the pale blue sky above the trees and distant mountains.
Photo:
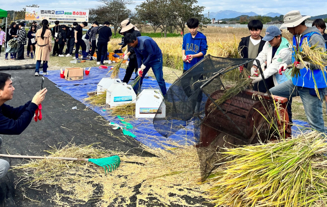
M 128 8 L 134 10 L 142 0 L 135 0 Z M 219 2 L 219 3 L 217 3 Z M 1 0 L 0 8 L 4 10 L 20 10 L 26 5 L 38 4 L 47 8 L 78 8 L 87 9 L 101 5 L 97 0 Z M 285 14 L 291 10 L 300 10 L 302 15 L 317 16 L 327 14 L 327 0 L 198 0 L 198 4 L 205 6 L 204 13 L 220 10 L 234 10 L 239 12 L 253 11 L 264 15 L 269 12 Z

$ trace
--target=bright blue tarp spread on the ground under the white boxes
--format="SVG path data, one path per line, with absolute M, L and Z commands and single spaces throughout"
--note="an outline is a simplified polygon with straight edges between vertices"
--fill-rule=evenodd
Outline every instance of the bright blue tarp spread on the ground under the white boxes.
M 49 71 L 49 75 L 46 77 L 54 82 L 57 87 L 63 92 L 71 95 L 74 99 L 82 102 L 86 106 L 90 107 L 92 110 L 103 116 L 106 120 L 114 122 L 116 124 L 123 125 L 120 119 L 117 116 L 110 116 L 110 109 L 97 107 L 94 105 L 87 104 L 83 101 L 84 98 L 87 98 L 87 92 L 95 91 L 97 83 L 103 78 L 106 77 L 106 73 L 109 69 L 99 69 L 98 67 L 92 67 L 89 75 L 84 75 L 83 80 L 79 81 L 67 81 L 63 78 L 60 78 L 60 71 L 53 70 Z M 125 69 L 120 69 L 119 78 L 122 80 L 125 75 Z M 110 73 L 107 77 L 110 76 Z M 166 83 L 167 89 L 171 84 Z M 159 89 L 157 81 L 151 77 L 143 80 L 142 89 Z M 193 124 L 190 122 L 186 127 L 183 127 L 175 134 L 171 135 L 168 138 L 160 135 L 153 126 L 153 119 L 151 118 L 138 118 L 128 120 L 132 124 L 133 128 L 128 129 L 134 135 L 135 139 L 141 143 L 155 148 L 164 148 L 164 146 L 173 146 L 171 143 L 178 143 L 180 145 L 193 145 L 195 144 L 195 137 L 193 134 Z M 301 126 L 309 126 L 305 121 L 293 120 L 293 123 Z M 299 135 L 300 130 L 297 126 L 292 126 L 292 134 Z

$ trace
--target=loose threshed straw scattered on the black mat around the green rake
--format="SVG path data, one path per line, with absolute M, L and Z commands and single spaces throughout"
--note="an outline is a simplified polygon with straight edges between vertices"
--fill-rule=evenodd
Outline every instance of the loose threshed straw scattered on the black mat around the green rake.
M 143 157 L 75 145 L 49 152 L 53 156 L 92 158 L 119 155 L 119 168 L 107 175 L 102 167 L 67 160 L 31 160 L 13 168 L 20 177 L 19 185 L 24 183 L 37 189 L 46 184 L 62 188 L 52 198 L 57 206 L 72 206 L 68 200 L 75 204 L 92 201 L 92 205 L 98 207 L 127 207 L 133 203 L 136 206 L 206 206 L 191 201 L 192 198 L 201 199 L 202 192 L 210 185 L 198 184 L 200 163 L 195 148 L 178 146 L 162 150 L 145 147 L 144 150 L 156 156 Z

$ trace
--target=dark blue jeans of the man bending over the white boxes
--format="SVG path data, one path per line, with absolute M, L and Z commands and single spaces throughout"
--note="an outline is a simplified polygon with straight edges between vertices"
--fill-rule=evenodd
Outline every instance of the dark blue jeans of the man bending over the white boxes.
M 167 93 L 167 89 L 166 89 L 166 84 L 164 83 L 163 58 L 162 57 L 158 60 L 151 61 L 151 63 L 149 65 L 147 65 L 147 67 L 143 71 L 142 77 L 133 87 L 135 93 L 137 94 L 139 89 L 141 88 L 142 83 L 143 83 L 143 78 L 150 70 L 150 67 L 152 68 L 152 71 L 155 74 L 155 77 L 157 79 L 157 82 L 159 84 L 161 92 L 163 93 L 163 95 L 165 95 Z

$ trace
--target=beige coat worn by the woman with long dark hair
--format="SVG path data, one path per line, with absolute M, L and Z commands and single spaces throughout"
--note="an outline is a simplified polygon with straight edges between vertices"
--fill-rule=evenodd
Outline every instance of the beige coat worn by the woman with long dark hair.
M 49 61 L 50 51 L 52 50 L 52 35 L 50 30 L 46 30 L 44 33 L 44 39 L 41 38 L 42 28 L 36 31 L 35 40 L 35 59 Z M 45 46 L 43 46 L 45 45 Z M 40 47 L 43 46 L 43 47 Z

